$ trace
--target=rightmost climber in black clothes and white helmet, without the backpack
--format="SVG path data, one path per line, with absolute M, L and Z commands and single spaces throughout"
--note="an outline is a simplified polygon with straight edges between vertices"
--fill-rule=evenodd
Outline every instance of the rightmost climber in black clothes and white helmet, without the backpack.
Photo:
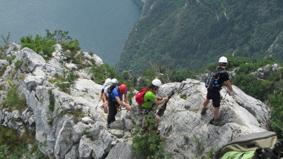
M 227 64 L 228 64 L 227 58 L 221 57 L 219 59 L 219 67 L 216 68 L 216 69 L 225 70 Z M 228 76 L 227 72 L 223 72 L 223 73 L 220 74 L 218 83 L 221 86 L 224 83 L 228 87 L 228 90 L 231 92 L 230 95 L 234 94 L 234 91 L 233 91 L 233 88 L 232 88 L 232 84 L 229 81 L 229 76 Z M 201 115 L 204 115 L 206 113 L 206 107 L 207 107 L 207 104 L 210 101 L 210 99 L 212 99 L 212 103 L 213 103 L 213 107 L 214 107 L 214 111 L 213 111 L 214 121 L 213 121 L 213 123 L 214 123 L 215 126 L 223 126 L 225 124 L 225 122 L 220 121 L 220 119 L 218 117 L 218 115 L 219 115 L 219 107 L 220 107 L 220 100 L 221 100 L 221 98 L 220 98 L 220 90 L 219 91 L 215 91 L 215 90 L 211 90 L 211 89 L 207 88 L 206 99 L 204 99 L 204 101 L 203 101 Z

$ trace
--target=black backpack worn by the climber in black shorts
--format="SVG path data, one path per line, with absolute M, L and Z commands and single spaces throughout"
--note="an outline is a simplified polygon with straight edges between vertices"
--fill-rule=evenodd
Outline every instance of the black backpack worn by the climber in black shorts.
M 221 70 L 220 68 L 215 68 L 214 70 L 211 70 L 205 82 L 206 89 L 209 88 L 213 91 L 220 91 L 222 89 L 223 82 L 220 83 L 219 78 L 220 75 L 225 72 L 226 70 Z

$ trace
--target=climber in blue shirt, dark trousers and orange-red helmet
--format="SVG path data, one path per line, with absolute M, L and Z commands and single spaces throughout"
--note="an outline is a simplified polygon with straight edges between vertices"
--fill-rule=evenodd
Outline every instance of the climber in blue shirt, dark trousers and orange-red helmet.
M 128 111 L 131 111 L 131 107 L 128 105 L 128 88 L 126 84 L 113 84 L 114 89 L 112 89 L 112 85 L 108 89 L 109 98 L 109 112 L 107 116 L 107 128 L 110 127 L 110 123 L 115 121 L 115 116 L 117 114 L 117 109 L 120 105 L 123 108 L 126 108 Z M 125 98 L 125 103 L 122 102 L 122 98 Z

